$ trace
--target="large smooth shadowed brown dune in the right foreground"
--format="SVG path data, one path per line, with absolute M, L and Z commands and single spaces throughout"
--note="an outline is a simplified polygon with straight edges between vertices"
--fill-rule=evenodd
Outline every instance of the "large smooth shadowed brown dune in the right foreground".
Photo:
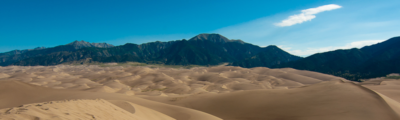
M 292 89 L 256 89 L 180 98 L 141 97 L 197 109 L 222 119 L 400 119 L 398 102 L 341 80 Z

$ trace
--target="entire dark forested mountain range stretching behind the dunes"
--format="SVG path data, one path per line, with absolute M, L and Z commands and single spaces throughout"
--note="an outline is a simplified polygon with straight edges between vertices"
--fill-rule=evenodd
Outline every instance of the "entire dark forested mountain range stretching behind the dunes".
M 188 40 L 143 44 L 73 41 L 55 47 L 39 47 L 0 53 L 0 65 L 56 65 L 88 62 L 146 62 L 171 65 L 216 65 L 291 67 L 317 71 L 357 81 L 400 72 L 400 37 L 360 49 L 338 49 L 308 57 L 292 55 L 275 45 L 259 47 L 220 34 L 198 34 Z

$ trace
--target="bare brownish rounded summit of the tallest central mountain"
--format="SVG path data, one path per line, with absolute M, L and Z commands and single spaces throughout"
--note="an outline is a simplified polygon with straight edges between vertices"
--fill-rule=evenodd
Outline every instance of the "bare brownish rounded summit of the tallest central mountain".
M 244 44 L 244 42 L 240 39 L 237 39 L 237 40 L 236 39 L 228 39 L 225 36 L 222 36 L 222 35 L 216 34 L 216 33 L 211 33 L 211 34 L 201 33 L 201 34 L 198 34 L 198 35 L 190 38 L 189 41 L 190 40 L 210 40 L 214 43 L 237 42 L 237 43 Z

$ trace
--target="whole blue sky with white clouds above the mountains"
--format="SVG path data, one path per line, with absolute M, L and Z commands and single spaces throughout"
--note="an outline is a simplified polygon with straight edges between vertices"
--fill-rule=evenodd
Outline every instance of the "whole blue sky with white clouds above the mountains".
M 400 36 L 400 0 L 1 0 L 0 52 L 219 33 L 308 56 Z

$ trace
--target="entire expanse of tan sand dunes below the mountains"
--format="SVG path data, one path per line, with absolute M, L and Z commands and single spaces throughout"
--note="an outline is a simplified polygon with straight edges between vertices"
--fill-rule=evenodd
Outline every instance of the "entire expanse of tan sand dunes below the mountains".
M 5 66 L 0 118 L 400 119 L 397 85 L 292 68 Z

